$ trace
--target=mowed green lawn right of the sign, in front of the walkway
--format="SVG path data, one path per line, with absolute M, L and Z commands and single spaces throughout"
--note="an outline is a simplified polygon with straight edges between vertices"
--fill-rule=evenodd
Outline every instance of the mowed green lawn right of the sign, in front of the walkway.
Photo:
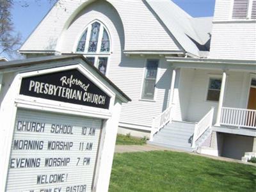
M 169 151 L 115 154 L 109 192 L 256 191 L 256 167 Z

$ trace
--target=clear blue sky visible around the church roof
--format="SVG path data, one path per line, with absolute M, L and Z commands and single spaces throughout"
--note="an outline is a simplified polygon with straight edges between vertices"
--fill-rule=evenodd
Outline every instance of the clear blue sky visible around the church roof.
M 21 41 L 23 43 L 40 23 L 40 21 L 45 17 L 47 12 L 49 12 L 54 4 L 54 0 L 14 1 L 15 3 L 12 9 L 12 21 L 15 31 L 20 32 L 22 35 Z M 24 2 L 27 2 L 28 6 L 25 6 L 26 3 Z M 173 0 L 173 2 L 178 4 L 180 8 L 188 12 L 192 17 L 211 17 L 214 13 L 215 0 Z M 6 58 L 10 59 L 8 56 L 6 56 Z

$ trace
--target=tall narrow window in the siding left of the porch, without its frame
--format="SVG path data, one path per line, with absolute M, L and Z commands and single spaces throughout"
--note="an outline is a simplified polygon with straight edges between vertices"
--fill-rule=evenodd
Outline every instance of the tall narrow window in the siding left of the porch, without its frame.
M 141 99 L 154 100 L 159 60 L 147 60 Z

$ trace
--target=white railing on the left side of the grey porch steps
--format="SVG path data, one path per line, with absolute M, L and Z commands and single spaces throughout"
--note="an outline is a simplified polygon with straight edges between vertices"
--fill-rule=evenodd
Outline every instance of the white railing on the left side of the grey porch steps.
M 171 105 L 169 108 L 165 109 L 163 113 L 158 115 L 156 118 L 153 118 L 152 121 L 152 129 L 150 132 L 150 141 L 153 140 L 154 134 L 158 132 L 161 128 L 164 127 L 164 125 L 168 124 L 172 120 L 172 111 L 173 111 L 173 105 Z

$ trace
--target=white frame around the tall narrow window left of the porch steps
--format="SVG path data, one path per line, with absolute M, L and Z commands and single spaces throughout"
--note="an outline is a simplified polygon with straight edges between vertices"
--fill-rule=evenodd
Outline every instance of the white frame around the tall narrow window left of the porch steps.
M 156 83 L 155 83 L 155 90 L 154 90 L 154 97 L 153 99 L 143 99 L 143 86 L 144 86 L 144 81 L 145 81 L 145 77 L 146 77 L 146 70 L 147 70 L 147 61 L 148 60 L 157 60 L 158 64 L 157 64 L 157 72 L 156 72 Z M 144 101 L 149 101 L 149 102 L 156 102 L 156 97 L 157 97 L 157 88 L 156 88 L 156 84 L 158 83 L 159 80 L 159 66 L 161 65 L 161 60 L 160 58 L 147 58 L 145 59 L 144 62 L 144 68 L 143 68 L 143 79 L 141 82 L 141 91 L 140 91 L 140 99 L 139 100 L 144 100 Z

